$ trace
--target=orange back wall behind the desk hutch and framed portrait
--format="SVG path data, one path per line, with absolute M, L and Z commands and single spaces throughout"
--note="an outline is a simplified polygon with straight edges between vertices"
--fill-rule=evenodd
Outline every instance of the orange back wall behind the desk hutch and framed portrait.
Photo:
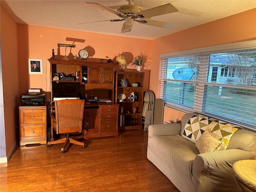
M 19 82 L 20 93 L 26 92 L 29 88 L 42 88 L 49 91 L 50 87 L 50 64 L 47 61 L 52 56 L 52 49 L 55 55 L 58 53 L 58 43 L 72 44 L 66 41 L 66 38 L 84 39 L 85 42 L 74 42 L 76 48 L 72 48 L 73 55 L 84 47 L 90 46 L 90 50 L 94 50 L 95 54 L 90 55 L 93 58 L 103 58 L 106 56 L 113 59 L 119 53 L 130 52 L 134 56 L 140 54 L 150 55 L 151 41 L 136 38 L 125 38 L 120 36 L 112 36 L 105 34 L 97 34 L 92 32 L 81 32 L 74 30 L 64 30 L 57 28 L 48 28 L 40 26 L 28 26 L 18 24 L 18 42 L 19 42 Z M 70 48 L 67 48 L 67 55 Z M 60 47 L 60 58 L 65 55 L 65 47 Z M 90 54 L 90 52 L 89 52 Z M 43 74 L 28 74 L 28 58 L 43 59 Z M 71 58 L 70 58 L 71 59 Z M 72 58 L 73 59 L 73 58 Z M 99 60 L 100 61 L 100 60 Z M 134 68 L 128 66 L 128 68 Z M 149 82 L 148 82 L 149 85 Z

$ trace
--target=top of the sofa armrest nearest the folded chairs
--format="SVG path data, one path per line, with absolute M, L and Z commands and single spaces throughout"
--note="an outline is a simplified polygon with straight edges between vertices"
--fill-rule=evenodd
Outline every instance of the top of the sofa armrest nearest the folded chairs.
M 148 127 L 148 137 L 159 135 L 178 135 L 181 131 L 181 123 L 155 124 Z

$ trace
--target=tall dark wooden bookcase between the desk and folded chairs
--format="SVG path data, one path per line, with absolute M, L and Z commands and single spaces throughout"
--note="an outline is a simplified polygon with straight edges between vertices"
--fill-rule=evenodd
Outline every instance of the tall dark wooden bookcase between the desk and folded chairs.
M 121 85 L 121 79 L 126 80 L 127 86 Z M 118 110 L 118 130 L 142 129 L 143 110 L 143 82 L 144 72 L 116 71 L 115 73 L 115 102 L 119 106 Z M 132 87 L 133 83 L 138 83 L 138 87 Z M 131 92 L 137 96 L 135 101 L 128 99 Z M 126 99 L 119 101 L 118 95 L 125 94 Z M 136 108 L 136 112 L 133 112 Z

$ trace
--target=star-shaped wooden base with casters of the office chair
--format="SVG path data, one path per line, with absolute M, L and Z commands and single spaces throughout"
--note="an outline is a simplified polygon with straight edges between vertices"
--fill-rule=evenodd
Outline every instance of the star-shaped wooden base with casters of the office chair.
M 49 141 L 47 144 L 48 144 L 48 147 L 51 147 L 52 144 L 64 143 L 61 147 L 61 151 L 62 153 L 65 153 L 66 152 L 65 149 L 69 143 L 81 145 L 83 148 L 85 148 L 86 145 L 84 144 L 84 142 L 78 141 L 78 139 L 81 139 L 81 138 L 83 138 L 82 135 L 70 136 L 70 133 L 67 133 L 66 136 L 61 135 L 60 139 Z

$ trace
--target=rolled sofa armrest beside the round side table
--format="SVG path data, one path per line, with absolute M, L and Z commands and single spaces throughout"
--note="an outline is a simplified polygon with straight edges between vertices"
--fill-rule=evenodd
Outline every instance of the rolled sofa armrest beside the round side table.
M 232 172 L 231 166 L 234 162 L 244 159 L 254 159 L 254 155 L 254 152 L 240 149 L 198 154 L 194 159 L 192 174 L 199 177 L 200 174 L 204 173 L 208 176 L 218 176 L 220 178 L 221 175 L 225 176 L 227 172 Z

